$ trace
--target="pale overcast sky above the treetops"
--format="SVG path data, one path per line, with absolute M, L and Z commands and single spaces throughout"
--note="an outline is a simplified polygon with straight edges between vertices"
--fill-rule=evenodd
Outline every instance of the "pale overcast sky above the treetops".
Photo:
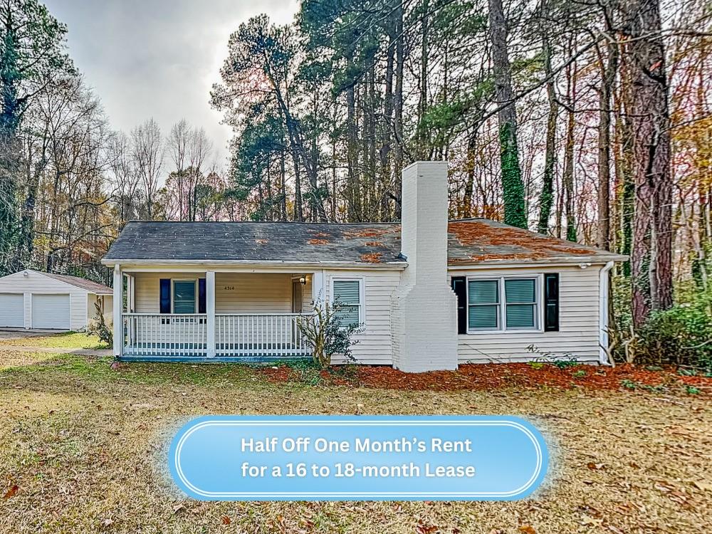
M 208 103 L 230 33 L 251 16 L 292 21 L 296 0 L 44 0 L 68 26 L 67 44 L 111 125 L 128 132 L 154 117 L 167 133 L 182 117 L 227 156 L 230 129 Z

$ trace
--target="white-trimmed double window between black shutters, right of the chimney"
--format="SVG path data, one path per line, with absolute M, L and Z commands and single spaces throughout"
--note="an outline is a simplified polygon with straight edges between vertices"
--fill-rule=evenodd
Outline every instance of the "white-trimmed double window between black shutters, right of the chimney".
M 540 277 L 468 278 L 468 330 L 539 330 Z

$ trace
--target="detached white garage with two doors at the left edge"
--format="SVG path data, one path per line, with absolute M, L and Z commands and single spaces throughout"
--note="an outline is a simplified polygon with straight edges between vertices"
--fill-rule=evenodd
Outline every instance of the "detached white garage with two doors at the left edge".
M 77 276 L 26 269 L 0 278 L 0 328 L 84 330 L 97 315 L 112 321 L 113 290 Z

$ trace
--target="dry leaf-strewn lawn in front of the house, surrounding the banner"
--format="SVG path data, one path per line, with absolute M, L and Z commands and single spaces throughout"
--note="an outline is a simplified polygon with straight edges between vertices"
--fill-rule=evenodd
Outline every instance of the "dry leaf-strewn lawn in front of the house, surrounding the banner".
M 700 533 L 710 397 L 274 384 L 227 365 L 0 361 L 1 533 Z M 515 414 L 547 436 L 545 488 L 512 503 L 201 503 L 172 488 L 172 432 L 201 414 Z M 6 498 L 1 498 L 2 495 Z

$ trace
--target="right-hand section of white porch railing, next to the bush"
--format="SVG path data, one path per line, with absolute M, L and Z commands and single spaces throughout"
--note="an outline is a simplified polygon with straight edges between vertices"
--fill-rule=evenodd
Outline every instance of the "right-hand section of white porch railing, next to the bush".
M 215 315 L 218 356 L 307 356 L 298 328 L 299 313 L 219 313 Z

